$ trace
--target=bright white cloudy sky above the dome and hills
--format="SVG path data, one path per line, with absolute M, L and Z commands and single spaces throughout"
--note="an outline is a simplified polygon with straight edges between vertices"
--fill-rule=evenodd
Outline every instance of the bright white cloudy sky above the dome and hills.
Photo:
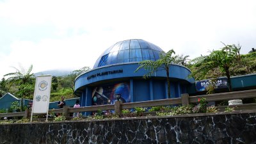
M 256 1 L 0 0 L 0 78 L 93 67 L 108 47 L 143 39 L 190 59 L 225 44 L 256 48 Z

